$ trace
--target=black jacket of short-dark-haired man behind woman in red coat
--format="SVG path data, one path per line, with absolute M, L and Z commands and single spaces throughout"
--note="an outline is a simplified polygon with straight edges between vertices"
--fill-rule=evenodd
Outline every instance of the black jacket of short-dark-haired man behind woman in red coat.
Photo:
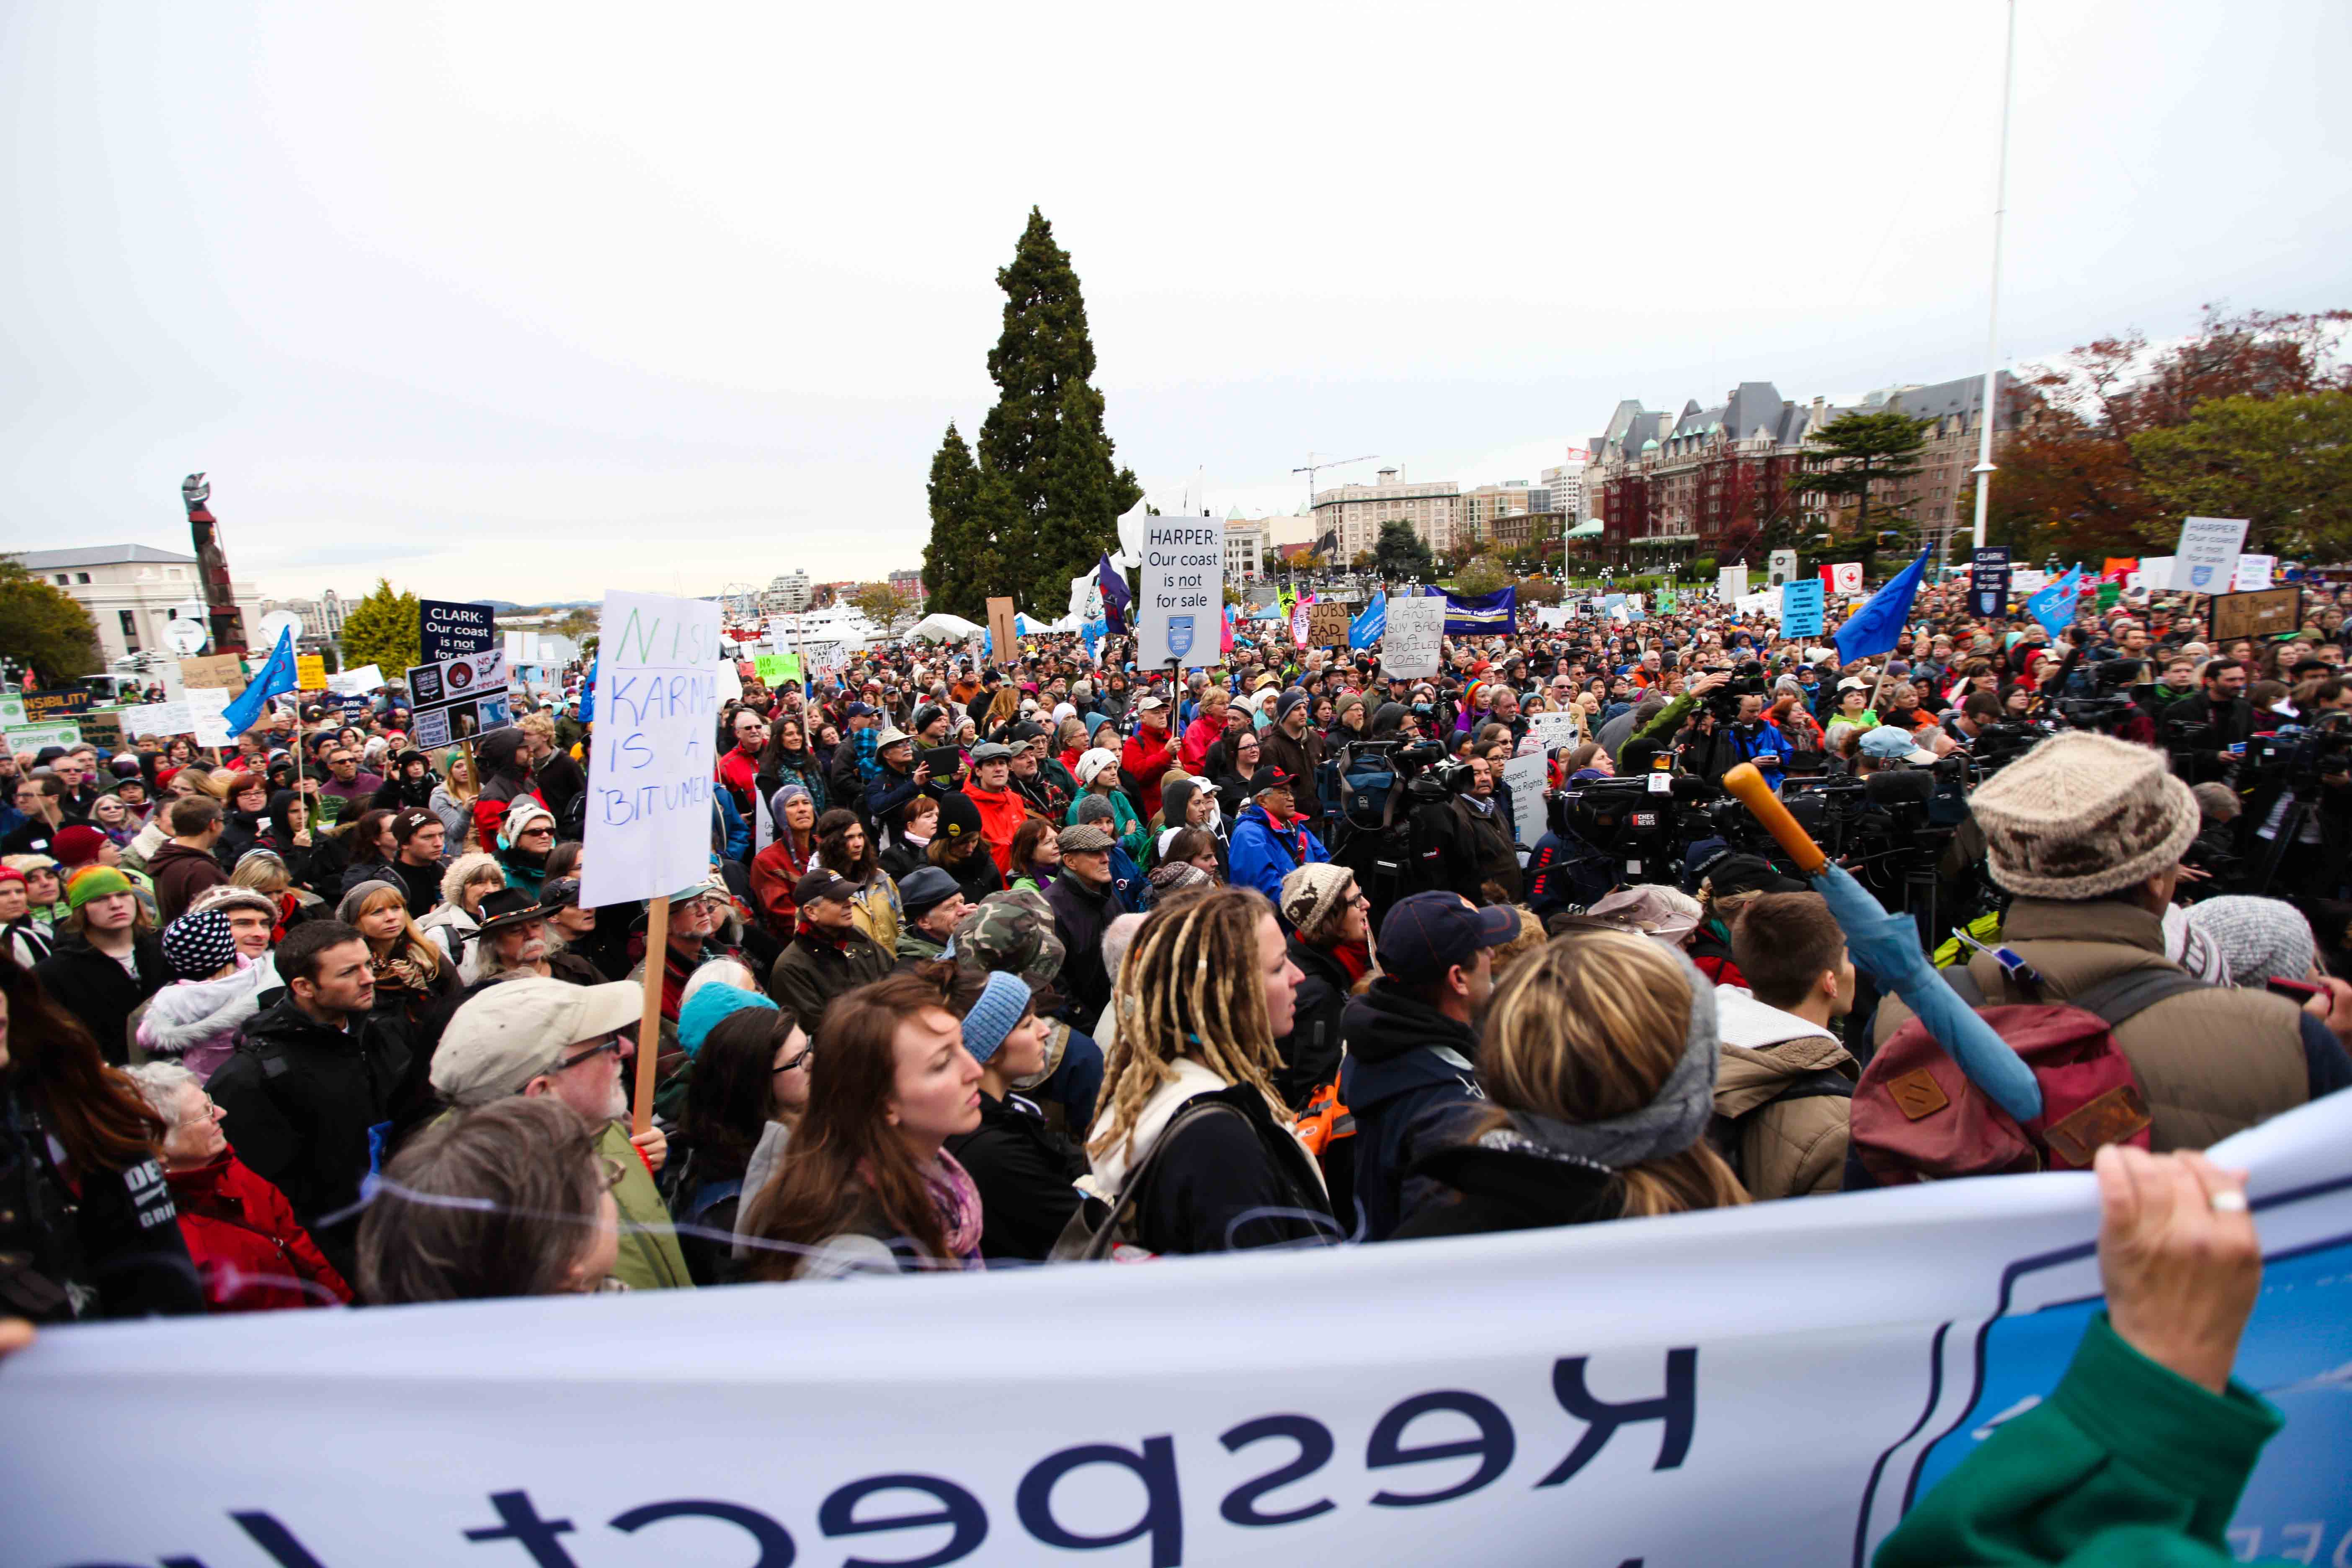
M 205 1084 L 228 1112 L 221 1135 L 238 1159 L 287 1194 L 294 1218 L 343 1279 L 358 1279 L 360 1218 L 339 1225 L 320 1218 L 360 1201 L 360 1180 L 376 1164 L 369 1128 L 381 1126 L 376 1138 L 390 1138 L 412 1065 L 407 1044 L 379 1020 L 362 1018 L 346 1032 L 280 997 L 245 1025 L 235 1056 Z

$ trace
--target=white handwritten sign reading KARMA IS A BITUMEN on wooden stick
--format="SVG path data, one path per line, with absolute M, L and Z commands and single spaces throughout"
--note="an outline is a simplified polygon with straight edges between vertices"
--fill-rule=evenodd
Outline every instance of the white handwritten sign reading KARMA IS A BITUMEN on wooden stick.
M 604 590 L 581 905 L 659 898 L 710 875 L 720 607 Z

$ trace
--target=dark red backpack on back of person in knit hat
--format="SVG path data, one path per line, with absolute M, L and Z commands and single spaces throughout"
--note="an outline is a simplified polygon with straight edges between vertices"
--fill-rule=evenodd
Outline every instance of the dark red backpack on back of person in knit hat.
M 2178 969 L 2133 969 L 2065 1001 L 1985 1006 L 1966 966 L 1943 978 L 2032 1067 L 2042 1114 L 2020 1126 L 1912 1018 L 1853 1088 L 1853 1154 L 1872 1178 L 1903 1185 L 2086 1171 L 2103 1145 L 2147 1147 L 2147 1100 L 2114 1027 L 2166 997 L 2206 990 L 2201 980 Z

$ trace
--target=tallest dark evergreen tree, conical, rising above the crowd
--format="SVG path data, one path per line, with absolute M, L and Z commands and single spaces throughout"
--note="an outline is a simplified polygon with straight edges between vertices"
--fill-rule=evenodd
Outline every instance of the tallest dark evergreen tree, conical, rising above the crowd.
M 1143 487 L 1134 473 L 1112 468 L 1103 395 L 1091 386 L 1087 301 L 1070 252 L 1054 244 L 1054 226 L 1035 207 L 1011 266 L 997 270 L 997 287 L 1004 331 L 988 353 L 997 407 L 981 421 L 978 440 L 978 465 L 1002 475 L 1007 498 L 995 529 L 1004 576 L 990 592 L 1011 592 L 1023 609 L 1049 614 L 1068 597 L 1070 578 L 1112 545 L 1115 520 Z M 1056 468 L 1056 447 L 1073 430 L 1084 449 Z

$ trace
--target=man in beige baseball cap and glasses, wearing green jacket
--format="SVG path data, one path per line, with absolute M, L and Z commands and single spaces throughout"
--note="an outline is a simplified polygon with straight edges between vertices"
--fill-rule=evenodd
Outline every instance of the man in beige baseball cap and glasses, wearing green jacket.
M 668 1159 L 659 1126 L 630 1138 L 623 1067 L 635 1058 L 644 992 L 626 980 L 569 985 L 501 980 L 449 1018 L 433 1053 L 433 1091 L 456 1112 L 515 1095 L 562 1100 L 597 1131 L 597 1152 L 621 1164 L 614 1201 L 621 1241 L 614 1279 L 633 1291 L 691 1286 L 654 1173 Z

